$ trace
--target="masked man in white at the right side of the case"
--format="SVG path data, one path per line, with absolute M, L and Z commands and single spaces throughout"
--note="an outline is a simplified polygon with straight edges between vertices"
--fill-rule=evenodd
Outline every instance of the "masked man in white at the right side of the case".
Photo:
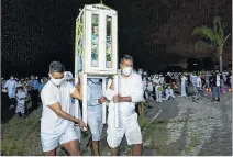
M 141 76 L 133 72 L 133 57 L 130 55 L 124 55 L 121 59 L 118 85 L 119 94 L 113 97 L 113 102 L 118 103 L 120 127 L 114 126 L 114 109 L 109 108 L 107 142 L 111 147 L 111 155 L 116 156 L 118 147 L 125 135 L 127 144 L 133 145 L 132 155 L 141 156 L 143 142 L 135 103 L 143 100 L 143 82 Z M 114 83 L 111 83 L 111 90 L 114 90 Z

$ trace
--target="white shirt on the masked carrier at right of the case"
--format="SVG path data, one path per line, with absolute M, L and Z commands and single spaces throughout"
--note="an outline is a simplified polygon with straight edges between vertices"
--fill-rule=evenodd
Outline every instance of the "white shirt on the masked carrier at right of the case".
M 119 112 L 121 115 L 131 115 L 135 112 L 135 103 L 143 101 L 143 81 L 137 74 L 132 74 L 123 78 L 119 74 L 119 94 L 121 97 L 131 97 L 132 102 L 119 102 Z

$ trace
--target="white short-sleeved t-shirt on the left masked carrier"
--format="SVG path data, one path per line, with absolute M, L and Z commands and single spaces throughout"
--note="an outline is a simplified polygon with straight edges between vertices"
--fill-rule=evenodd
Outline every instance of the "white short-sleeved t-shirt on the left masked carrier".
M 48 108 L 58 102 L 64 112 L 70 114 L 71 93 L 75 87 L 71 83 L 63 82 L 58 88 L 48 81 L 42 89 L 41 98 L 43 103 L 43 111 L 41 117 L 41 133 L 63 133 L 66 127 L 74 124 L 74 122 L 57 116 L 57 114 Z

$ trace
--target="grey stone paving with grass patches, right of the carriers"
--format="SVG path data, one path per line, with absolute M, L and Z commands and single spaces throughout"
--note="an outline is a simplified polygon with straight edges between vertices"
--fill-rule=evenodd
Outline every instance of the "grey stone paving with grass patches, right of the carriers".
M 210 98 L 198 103 L 186 98 L 177 98 L 176 103 L 163 102 L 154 138 L 146 144 L 154 146 L 154 153 L 148 155 L 232 155 L 231 98 L 231 93 L 222 96 L 221 103 Z

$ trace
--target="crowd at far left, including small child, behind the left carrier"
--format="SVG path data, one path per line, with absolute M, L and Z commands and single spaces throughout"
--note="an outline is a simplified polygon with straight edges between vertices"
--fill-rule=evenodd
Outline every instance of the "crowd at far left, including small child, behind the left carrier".
M 37 109 L 41 100 L 40 93 L 46 82 L 46 77 L 43 77 L 40 82 L 38 77 L 33 75 L 31 78 L 21 79 L 14 78 L 13 76 L 8 80 L 2 78 L 1 92 L 3 103 L 8 103 L 9 110 L 15 109 L 15 113 L 19 114 L 20 117 L 25 119 L 26 104 L 31 102 L 32 110 Z

